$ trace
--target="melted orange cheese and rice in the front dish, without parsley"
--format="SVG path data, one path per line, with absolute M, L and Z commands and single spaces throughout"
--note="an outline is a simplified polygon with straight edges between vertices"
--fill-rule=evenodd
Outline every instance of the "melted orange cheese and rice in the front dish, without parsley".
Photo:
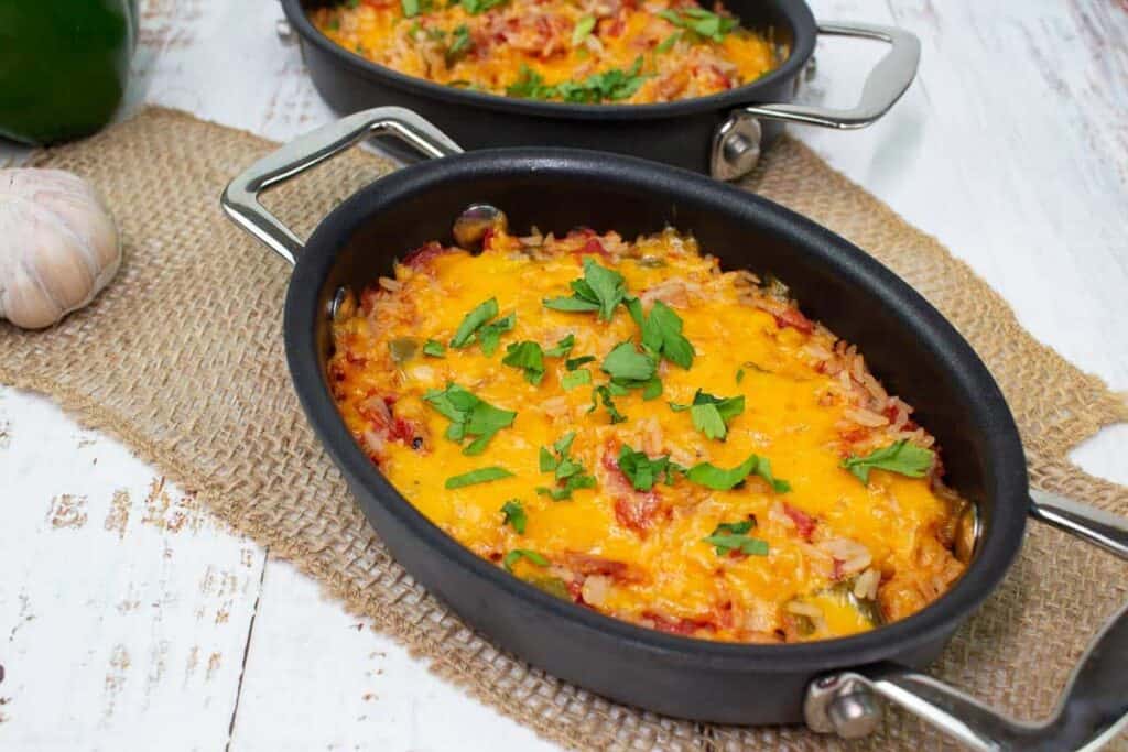
M 511 551 L 530 551 L 509 556 L 515 576 L 627 621 L 765 643 L 845 636 L 902 618 L 960 575 L 951 549 L 962 502 L 941 484 L 938 463 L 920 478 L 875 469 L 867 484 L 841 467 L 845 457 L 897 439 L 928 446 L 932 437 L 907 418 L 908 406 L 884 395 L 852 347 L 778 291 L 744 272 L 722 273 L 672 230 L 634 242 L 590 231 L 495 232 L 486 246 L 472 255 L 431 244 L 359 303 L 346 300 L 329 362 L 334 397 L 361 445 L 413 505 L 476 554 L 501 565 Z M 584 258 L 622 274 L 645 310 L 655 301 L 673 310 L 695 351 L 689 369 L 661 361 L 660 397 L 644 399 L 641 389 L 613 397 L 622 423 L 601 405 L 591 409 L 592 389 L 608 382 L 600 370 L 607 354 L 640 342 L 638 325 L 623 306 L 603 321 L 543 303 L 571 294 Z M 499 318 L 515 317 L 497 351 L 449 346 L 467 312 L 490 299 Z M 567 336 L 571 352 L 546 356 L 538 384 L 502 363 L 509 345 L 531 340 L 550 350 Z M 442 343 L 444 354 L 424 354 L 426 340 Z M 596 359 L 580 366 L 591 383 L 565 389 L 566 360 L 583 355 Z M 444 437 L 450 421 L 424 399 L 449 384 L 517 413 L 481 454 Z M 707 439 L 690 412 L 669 406 L 691 402 L 698 389 L 744 397 L 725 440 Z M 570 457 L 594 485 L 553 501 L 537 493 L 553 486 L 540 449 L 570 432 Z M 790 490 L 756 475 L 715 490 L 678 474 L 637 490 L 619 468 L 623 446 L 685 468 L 733 468 L 756 453 Z M 446 486 L 487 466 L 512 476 Z M 523 532 L 506 524 L 505 502 L 520 505 Z M 755 523 L 747 536 L 765 541 L 766 555 L 719 554 L 704 541 L 719 524 L 741 521 Z

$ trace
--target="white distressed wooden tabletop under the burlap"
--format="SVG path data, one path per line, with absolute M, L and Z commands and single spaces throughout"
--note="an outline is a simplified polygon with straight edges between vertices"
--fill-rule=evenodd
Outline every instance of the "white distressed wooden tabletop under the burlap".
M 279 140 L 332 117 L 275 35 L 274 0 L 143 6 L 132 106 Z M 869 131 L 793 133 L 949 245 L 1036 336 L 1128 389 L 1128 8 L 813 6 L 905 26 L 924 56 Z M 820 44 L 805 96 L 847 104 L 879 53 Z M 19 153 L 0 144 L 0 162 Z M 1075 459 L 1128 483 L 1125 445 L 1128 426 L 1114 427 Z M 552 746 L 432 676 L 126 448 L 3 388 L 0 665 L 5 750 Z

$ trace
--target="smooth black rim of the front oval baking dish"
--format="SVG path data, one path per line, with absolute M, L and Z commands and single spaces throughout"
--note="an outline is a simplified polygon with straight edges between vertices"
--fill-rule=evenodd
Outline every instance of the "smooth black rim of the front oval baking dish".
M 321 289 L 337 251 L 381 205 L 425 195 L 430 186 L 452 178 L 561 172 L 583 179 L 613 180 L 633 189 L 693 195 L 716 211 L 737 214 L 750 225 L 786 233 L 805 253 L 906 317 L 920 335 L 922 348 L 934 350 L 948 371 L 970 395 L 971 409 L 989 426 L 986 442 L 992 466 L 987 493 L 996 512 L 964 575 L 935 603 L 918 613 L 852 637 L 788 645 L 729 644 L 680 637 L 634 626 L 571 602 L 555 599 L 479 558 L 431 523 L 379 472 L 349 434 L 325 386 L 316 325 Z M 610 635 L 649 658 L 666 664 L 693 664 L 722 672 L 820 672 L 896 660 L 928 644 L 943 642 L 995 590 L 1022 543 L 1026 522 L 1028 481 L 1017 428 L 998 386 L 971 346 L 925 299 L 874 258 L 844 238 L 778 204 L 687 170 L 632 157 L 578 149 L 488 149 L 426 161 L 400 169 L 358 191 L 317 227 L 293 269 L 285 300 L 285 348 L 299 399 L 316 433 L 351 480 L 371 492 L 444 564 L 470 572 L 483 584 L 522 599 L 538 614 L 562 619 L 580 631 Z

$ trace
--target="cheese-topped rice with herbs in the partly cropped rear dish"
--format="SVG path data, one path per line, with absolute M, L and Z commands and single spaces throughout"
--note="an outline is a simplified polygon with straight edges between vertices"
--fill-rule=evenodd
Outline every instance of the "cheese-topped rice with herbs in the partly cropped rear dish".
M 776 68 L 768 38 L 737 26 L 720 3 L 714 11 L 693 0 L 361 0 L 311 19 L 346 50 L 438 83 L 649 104 L 717 94 Z M 624 79 L 590 86 L 608 73 Z M 530 81 L 547 88 L 522 88 Z

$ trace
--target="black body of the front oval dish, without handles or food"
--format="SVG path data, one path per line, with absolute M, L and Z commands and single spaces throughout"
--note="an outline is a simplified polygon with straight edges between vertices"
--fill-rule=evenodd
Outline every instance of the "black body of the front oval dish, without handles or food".
M 336 416 L 324 371 L 328 312 L 338 287 L 362 289 L 389 274 L 394 258 L 429 240 L 451 242 L 452 219 L 478 202 L 503 209 L 519 231 L 534 224 L 546 232 L 587 225 L 629 237 L 673 225 L 693 232 L 723 268 L 746 267 L 790 285 L 808 316 L 857 343 L 874 374 L 916 406 L 918 421 L 944 448 L 951 485 L 979 505 L 981 540 L 963 578 L 932 607 L 873 632 L 800 645 L 724 645 L 653 632 L 554 601 L 425 522 Z M 369 517 L 408 570 L 464 618 L 565 679 L 686 717 L 797 720 L 801 688 L 817 672 L 934 657 L 1017 550 L 1025 468 L 1010 412 L 986 369 L 904 282 L 841 238 L 769 202 L 629 158 L 481 151 L 417 165 L 370 185 L 323 222 L 305 254 L 287 302 L 288 357 L 315 428 Z M 535 623 L 522 627 L 530 620 Z M 764 672 L 779 674 L 778 698 L 761 697 L 757 705 L 733 696 Z M 696 695 L 670 685 L 689 678 Z

